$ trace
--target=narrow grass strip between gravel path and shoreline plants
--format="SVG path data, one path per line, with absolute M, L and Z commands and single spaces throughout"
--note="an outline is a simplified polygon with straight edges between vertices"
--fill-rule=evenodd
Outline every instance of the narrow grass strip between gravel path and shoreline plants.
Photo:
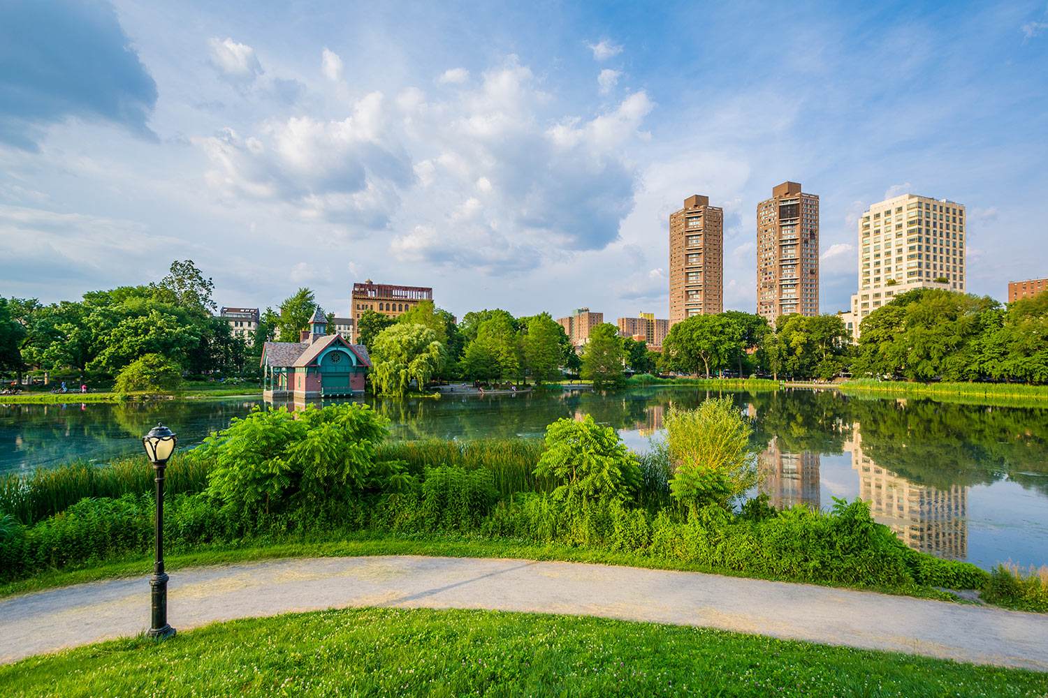
M 446 558 L 515 558 L 520 560 L 558 560 L 563 562 L 585 562 L 591 564 L 641 567 L 645 569 L 671 569 L 676 571 L 707 572 L 726 577 L 791 581 L 787 577 L 762 575 L 754 571 L 738 571 L 713 567 L 698 562 L 673 560 L 638 555 L 636 553 L 613 553 L 587 547 L 575 547 L 559 543 L 531 543 L 517 539 L 486 538 L 470 534 L 405 535 L 383 532 L 356 532 L 343 534 L 336 539 L 324 540 L 316 535 L 299 537 L 279 542 L 236 541 L 200 546 L 191 551 L 165 554 L 165 566 L 169 575 L 179 569 L 204 565 L 233 564 L 253 560 L 278 558 L 334 558 L 367 557 L 383 555 L 421 555 Z M 71 565 L 62 570 L 49 569 L 32 577 L 0 584 L 0 599 L 20 593 L 30 593 L 53 589 L 70 584 L 95 582 L 107 579 L 123 579 L 146 576 L 152 569 L 152 553 L 129 553 L 107 557 L 104 561 L 93 560 Z M 817 586 L 836 586 L 807 582 Z M 931 587 L 911 585 L 903 589 L 865 586 L 867 591 L 879 591 L 895 595 L 910 595 L 937 601 L 959 601 L 958 596 Z

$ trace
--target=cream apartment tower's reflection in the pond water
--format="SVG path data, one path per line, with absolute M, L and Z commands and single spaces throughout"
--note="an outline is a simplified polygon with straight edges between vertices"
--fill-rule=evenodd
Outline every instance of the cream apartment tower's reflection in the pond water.
M 874 521 L 883 523 L 910 547 L 940 558 L 963 560 L 968 553 L 968 489 L 938 490 L 916 485 L 873 463 L 863 452 L 858 424 L 845 449 L 858 472 L 859 497 L 870 502 Z

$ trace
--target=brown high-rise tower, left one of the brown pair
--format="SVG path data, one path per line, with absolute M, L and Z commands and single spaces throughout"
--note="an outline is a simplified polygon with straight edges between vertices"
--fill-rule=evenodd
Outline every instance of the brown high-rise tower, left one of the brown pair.
M 724 210 L 709 197 L 684 199 L 670 216 L 670 327 L 724 311 Z

